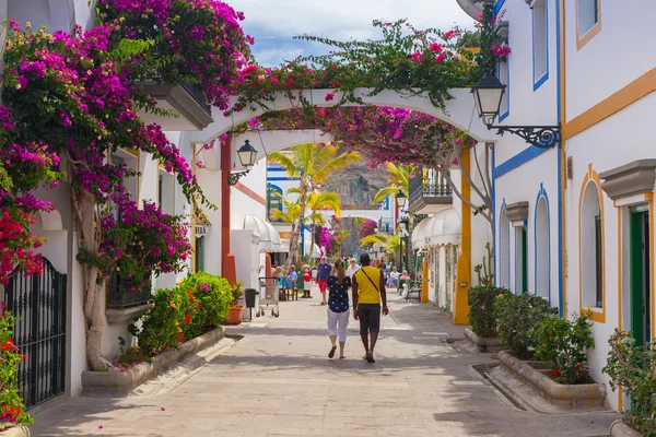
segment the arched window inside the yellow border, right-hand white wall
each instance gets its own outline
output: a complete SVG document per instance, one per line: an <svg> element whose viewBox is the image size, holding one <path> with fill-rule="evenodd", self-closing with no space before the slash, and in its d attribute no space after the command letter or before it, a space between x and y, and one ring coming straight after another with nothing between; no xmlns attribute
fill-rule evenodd
<svg viewBox="0 0 656 437"><path fill-rule="evenodd" d="M599 187L589 180L579 213L581 307L604 307L604 217Z"/></svg>

